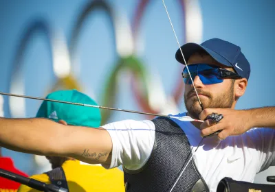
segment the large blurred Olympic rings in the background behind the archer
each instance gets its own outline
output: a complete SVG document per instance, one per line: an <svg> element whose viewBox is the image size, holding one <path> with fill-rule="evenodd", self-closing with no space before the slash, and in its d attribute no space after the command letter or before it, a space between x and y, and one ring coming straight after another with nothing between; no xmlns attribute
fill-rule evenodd
<svg viewBox="0 0 275 192"><path fill-rule="evenodd" d="M196 0L178 0L179 10L181 11L182 21L184 23L184 36L186 42L200 42L202 35L202 19L199 9L198 1ZM111 34L113 34L113 45L115 45L114 51L118 56L118 60L115 61L115 67L110 72L107 82L105 82L105 91L102 93L102 101L99 101L102 106L113 107L115 104L116 97L116 86L118 86L118 78L120 71L127 69L131 72L131 89L137 104L146 112L158 113L163 112L165 106L164 103L156 105L152 104L151 100L154 94L151 90L152 84L148 83L148 72L146 67L142 63L142 60L137 57L137 39L140 32L140 23L142 16L146 8L148 7L148 0L139 1L135 8L133 16L133 25L130 25L129 21L125 16L121 15L120 12L115 12L113 6L109 1L94 0L87 3L78 14L75 24L72 27L72 36L69 39L69 46L66 43L65 36L62 32L53 29L52 26L47 23L44 19L38 19L32 21L26 28L25 32L19 40L19 47L15 54L14 61L12 62L12 71L10 73L10 87L9 92L24 95L25 86L23 84L23 53L27 48L30 39L34 35L34 32L43 32L47 37L48 47L52 54L52 69L56 82L51 85L50 89L47 89L47 93L50 93L58 88L76 88L81 91L82 87L80 83L74 77L72 71L72 65L78 64L76 62L76 47L80 31L83 28L83 23L86 21L88 16L95 10L104 11L109 18L109 25L111 25ZM195 12L195 13L194 13ZM192 21L192 22L191 22ZM194 22L196 21L196 22ZM191 26L192 24L192 26ZM194 31L195 30L195 31ZM195 34L195 35L194 35ZM179 75L180 76L180 75ZM177 108L179 99L183 92L183 86L181 84L181 77L178 78L175 84L175 88L172 96L174 105ZM45 93L45 94L47 94ZM112 95L112 97L110 97ZM163 95L166 98L166 95ZM167 99L166 99L167 101ZM25 101L21 98L10 97L9 101L8 116L10 117L25 117ZM157 107L156 107L157 106ZM159 108L159 106L162 106ZM171 105L170 105L171 106ZM176 109L173 110L176 110ZM111 111L102 110L102 123L106 123L111 116Z"/></svg>

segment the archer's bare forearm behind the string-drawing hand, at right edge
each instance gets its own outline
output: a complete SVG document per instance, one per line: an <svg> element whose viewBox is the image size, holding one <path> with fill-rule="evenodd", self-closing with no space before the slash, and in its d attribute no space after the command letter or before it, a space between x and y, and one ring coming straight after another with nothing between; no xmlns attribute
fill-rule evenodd
<svg viewBox="0 0 275 192"><path fill-rule="evenodd" d="M275 107L244 110L250 116L252 128L275 128Z"/></svg>

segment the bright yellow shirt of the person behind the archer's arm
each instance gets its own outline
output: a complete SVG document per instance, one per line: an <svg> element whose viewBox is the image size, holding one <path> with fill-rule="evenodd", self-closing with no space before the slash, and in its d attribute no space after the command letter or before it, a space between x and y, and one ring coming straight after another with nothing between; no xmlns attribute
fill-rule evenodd
<svg viewBox="0 0 275 192"><path fill-rule="evenodd" d="M118 168L104 169L98 165L81 165L79 160L66 160L62 168L70 192L125 191L123 172ZM50 179L45 173L30 178L50 184ZM37 190L21 184L18 191L36 192Z"/></svg>

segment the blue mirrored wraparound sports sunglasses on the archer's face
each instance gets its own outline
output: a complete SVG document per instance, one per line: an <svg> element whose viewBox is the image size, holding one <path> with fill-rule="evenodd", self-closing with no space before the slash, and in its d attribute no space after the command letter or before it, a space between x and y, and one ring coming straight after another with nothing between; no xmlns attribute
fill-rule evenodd
<svg viewBox="0 0 275 192"><path fill-rule="evenodd" d="M188 65L192 80L198 75L203 84L219 84L223 79L241 79L242 77L232 71L221 69L210 64L190 64ZM185 84L192 84L187 67L182 72Z"/></svg>

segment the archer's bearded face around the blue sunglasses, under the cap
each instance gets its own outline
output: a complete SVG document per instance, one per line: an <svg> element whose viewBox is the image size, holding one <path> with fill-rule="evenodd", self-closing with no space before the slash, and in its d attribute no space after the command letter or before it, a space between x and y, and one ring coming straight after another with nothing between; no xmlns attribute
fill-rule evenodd
<svg viewBox="0 0 275 192"><path fill-rule="evenodd" d="M208 55L193 54L189 60L188 65L196 63L214 64L220 68L233 71L232 68L225 68L213 58ZM234 104L234 81L225 79L218 84L203 84L199 76L194 80L199 99L203 108L232 108ZM197 95L192 84L185 84L184 103L188 111L188 115L195 119L199 119L199 114L202 109L199 105Z"/></svg>

